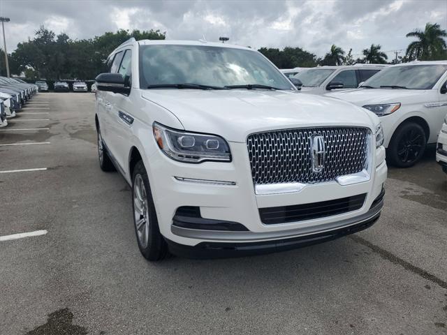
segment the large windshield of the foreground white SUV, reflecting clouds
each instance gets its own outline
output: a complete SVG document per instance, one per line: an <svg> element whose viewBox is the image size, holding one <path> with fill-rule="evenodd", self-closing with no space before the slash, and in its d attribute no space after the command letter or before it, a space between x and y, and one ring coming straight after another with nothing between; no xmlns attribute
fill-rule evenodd
<svg viewBox="0 0 447 335"><path fill-rule="evenodd" d="M140 87L164 84L250 84L295 90L258 52L209 45L142 45Z"/></svg>

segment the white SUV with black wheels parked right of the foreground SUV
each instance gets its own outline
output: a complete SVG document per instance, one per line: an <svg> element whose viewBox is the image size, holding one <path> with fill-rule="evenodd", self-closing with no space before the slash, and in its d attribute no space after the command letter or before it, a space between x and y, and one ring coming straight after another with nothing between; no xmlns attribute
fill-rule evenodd
<svg viewBox="0 0 447 335"><path fill-rule="evenodd" d="M390 163L414 165L435 144L447 113L447 61L414 61L382 70L360 89L329 94L376 113Z"/></svg>

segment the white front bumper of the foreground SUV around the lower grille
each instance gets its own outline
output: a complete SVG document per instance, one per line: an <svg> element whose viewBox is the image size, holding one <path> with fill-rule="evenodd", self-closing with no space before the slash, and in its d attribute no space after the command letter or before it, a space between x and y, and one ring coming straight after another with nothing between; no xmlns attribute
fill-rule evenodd
<svg viewBox="0 0 447 335"><path fill-rule="evenodd" d="M152 135L152 134L149 134ZM147 143L153 141L148 137ZM372 203L381 193L386 180L387 167L384 161L385 149L376 150L373 157L371 177L358 184L344 185L336 181L311 184L299 192L256 195L251 179L251 168L247 145L230 142L233 161L230 163L206 162L186 164L171 160L158 147L152 155L145 156L149 182L159 228L163 237L175 248L177 244L198 246L208 244L264 244L283 239L302 239L311 234L335 234L337 230L359 223L359 218L374 219L368 216ZM149 163L150 162L150 163ZM376 162L382 162L378 165ZM175 179L205 179L207 181L231 181L233 185L205 184ZM313 202L324 202L352 195L366 194L365 202L359 209L333 216L311 220L266 225L261 221L259 209ZM246 232L221 232L216 230L188 230L173 225L173 218L179 207L200 207L204 219L240 223ZM332 232L330 232L332 231ZM338 236L339 233L337 233ZM335 238L335 237L334 237ZM325 238L321 238L325 239ZM276 243L276 242L275 242ZM175 252L175 251L174 251Z"/></svg>

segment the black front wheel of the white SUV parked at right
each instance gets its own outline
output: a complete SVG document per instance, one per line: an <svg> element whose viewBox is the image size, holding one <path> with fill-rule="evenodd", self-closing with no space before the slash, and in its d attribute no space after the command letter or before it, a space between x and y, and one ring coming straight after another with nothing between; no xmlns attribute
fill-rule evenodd
<svg viewBox="0 0 447 335"><path fill-rule="evenodd" d="M424 129L414 122L406 122L393 134L386 156L391 165L409 168L423 156L426 145Z"/></svg>

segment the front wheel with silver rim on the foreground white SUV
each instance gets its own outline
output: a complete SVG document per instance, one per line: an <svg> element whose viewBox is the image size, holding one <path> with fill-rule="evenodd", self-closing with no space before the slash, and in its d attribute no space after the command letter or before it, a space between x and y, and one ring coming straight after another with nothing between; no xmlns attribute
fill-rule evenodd
<svg viewBox="0 0 447 335"><path fill-rule="evenodd" d="M136 163L132 176L133 226L141 254L152 262L168 256L168 244L159 230L149 179L142 161Z"/></svg>

